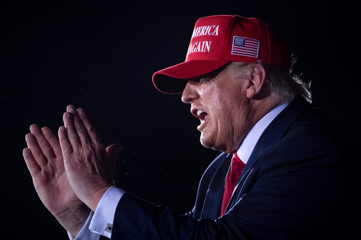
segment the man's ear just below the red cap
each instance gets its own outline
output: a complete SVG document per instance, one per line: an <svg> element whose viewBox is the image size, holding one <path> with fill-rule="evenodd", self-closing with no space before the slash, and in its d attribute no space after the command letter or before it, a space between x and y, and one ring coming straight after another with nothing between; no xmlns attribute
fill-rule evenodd
<svg viewBox="0 0 361 240"><path fill-rule="evenodd" d="M262 87L266 81L266 69L261 64L255 64L253 66L251 76L248 80L248 86L246 89L247 98L254 98L262 90Z"/></svg>

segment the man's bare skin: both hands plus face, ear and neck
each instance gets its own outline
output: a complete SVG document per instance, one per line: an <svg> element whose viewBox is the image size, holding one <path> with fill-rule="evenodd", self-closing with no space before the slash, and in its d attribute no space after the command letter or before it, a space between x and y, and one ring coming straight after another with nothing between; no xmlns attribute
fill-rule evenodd
<svg viewBox="0 0 361 240"><path fill-rule="evenodd" d="M265 69L255 64L243 78L223 70L216 77L188 81L182 94L199 109L200 141L207 147L235 153L249 130L277 103L263 87ZM47 209L74 237L95 211L105 191L113 186L116 154L122 145L105 148L83 109L67 107L58 139L44 127L30 126L23 156L36 192Z"/></svg>

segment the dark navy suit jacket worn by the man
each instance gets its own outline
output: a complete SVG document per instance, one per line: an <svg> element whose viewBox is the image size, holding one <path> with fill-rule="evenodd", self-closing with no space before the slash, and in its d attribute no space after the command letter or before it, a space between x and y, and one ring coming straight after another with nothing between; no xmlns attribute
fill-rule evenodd
<svg viewBox="0 0 361 240"><path fill-rule="evenodd" d="M352 143L296 98L262 133L225 215L219 217L231 155L222 153L204 172L191 212L179 216L126 193L111 239L360 239L359 221L349 217L359 216Z"/></svg>

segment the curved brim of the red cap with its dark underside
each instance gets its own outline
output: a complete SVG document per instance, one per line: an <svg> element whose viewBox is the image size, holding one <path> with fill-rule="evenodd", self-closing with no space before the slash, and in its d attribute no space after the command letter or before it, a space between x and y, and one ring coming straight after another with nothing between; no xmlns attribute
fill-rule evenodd
<svg viewBox="0 0 361 240"><path fill-rule="evenodd" d="M188 60L153 74L153 84L167 94L182 93L187 81L222 67L229 60ZM186 81L187 80L187 81Z"/></svg>

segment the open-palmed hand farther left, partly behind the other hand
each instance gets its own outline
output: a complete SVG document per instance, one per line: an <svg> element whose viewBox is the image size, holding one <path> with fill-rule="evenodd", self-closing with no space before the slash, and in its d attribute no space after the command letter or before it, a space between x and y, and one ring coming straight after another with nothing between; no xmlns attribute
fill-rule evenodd
<svg viewBox="0 0 361 240"><path fill-rule="evenodd" d="M28 147L23 150L23 156L36 192L60 224L77 236L90 209L69 184L57 137L48 127L40 130L36 124L30 126L30 132L25 136Z"/></svg>

